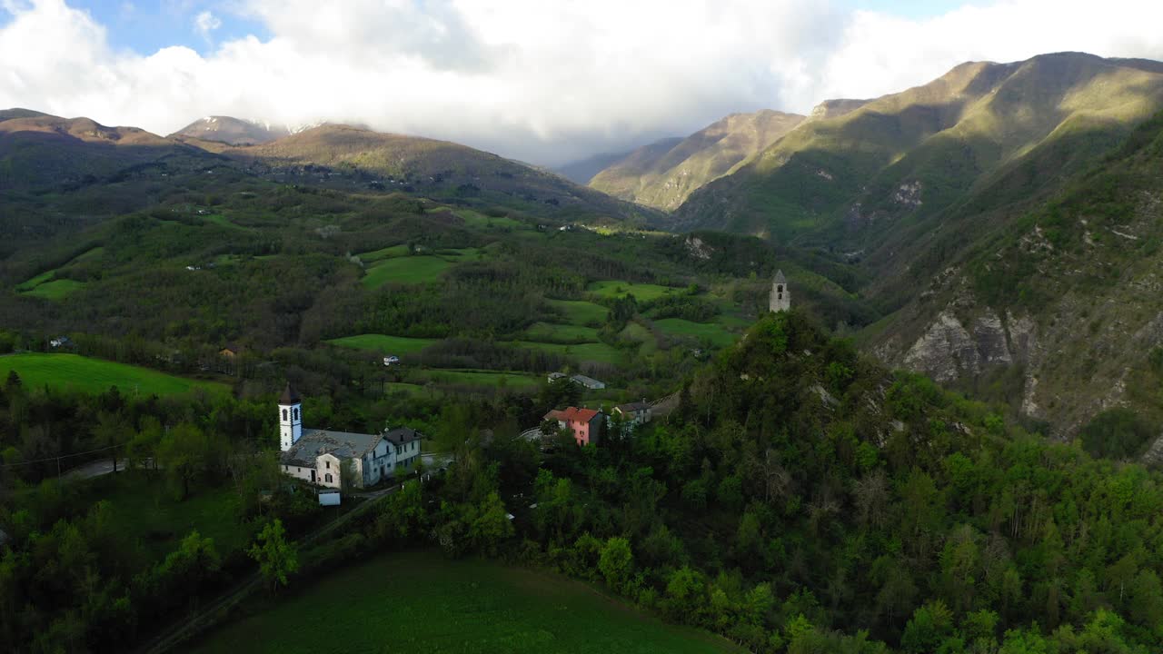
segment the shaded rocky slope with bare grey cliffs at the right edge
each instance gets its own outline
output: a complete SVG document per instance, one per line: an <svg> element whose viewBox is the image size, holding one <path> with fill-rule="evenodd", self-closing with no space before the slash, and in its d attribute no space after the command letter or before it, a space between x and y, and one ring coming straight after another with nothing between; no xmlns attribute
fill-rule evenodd
<svg viewBox="0 0 1163 654"><path fill-rule="evenodd" d="M1063 434L1085 432L1094 417L1123 406L1157 425L1160 170L1163 114L1046 201L992 221L939 273L918 279L920 296L869 334L870 346L886 361L1008 400ZM1149 445L1140 441L1127 454Z"/></svg>

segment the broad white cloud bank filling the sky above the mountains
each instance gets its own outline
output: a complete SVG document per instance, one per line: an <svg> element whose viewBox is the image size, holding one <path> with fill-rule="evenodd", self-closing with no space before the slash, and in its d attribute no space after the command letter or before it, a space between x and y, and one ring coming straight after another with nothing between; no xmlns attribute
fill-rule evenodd
<svg viewBox="0 0 1163 654"><path fill-rule="evenodd" d="M205 55L113 51L62 0L2 1L15 17L0 27L0 107L162 134L207 114L357 121L538 163L734 111L900 91L968 59L1163 59L1163 3L1135 0L1000 1L925 20L811 0L235 0L223 6L270 38ZM221 24L195 19L204 35Z"/></svg>

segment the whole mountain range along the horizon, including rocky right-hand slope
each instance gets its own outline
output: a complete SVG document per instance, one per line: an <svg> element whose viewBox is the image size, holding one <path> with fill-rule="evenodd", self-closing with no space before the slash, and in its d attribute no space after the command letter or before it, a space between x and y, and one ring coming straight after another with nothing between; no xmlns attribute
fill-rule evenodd
<svg viewBox="0 0 1163 654"><path fill-rule="evenodd" d="M158 136L8 109L0 194L14 211L0 248L144 209L176 192L165 176L192 173L695 233L683 241L695 260L736 247L714 251L708 232L756 236L793 289L847 303L835 328L865 350L1069 435L1120 406L1163 418L1149 363L1163 346L1161 109L1163 63L971 62L900 93L806 116L733 114L563 169L584 186L343 125L292 133L212 116ZM126 180L131 192L104 190ZM76 204L47 202L53 193Z"/></svg>

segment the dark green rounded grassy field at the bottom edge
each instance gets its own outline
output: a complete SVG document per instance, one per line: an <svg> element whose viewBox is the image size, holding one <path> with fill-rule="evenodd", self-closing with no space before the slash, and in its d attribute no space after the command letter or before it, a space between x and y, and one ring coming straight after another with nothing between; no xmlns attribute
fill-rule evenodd
<svg viewBox="0 0 1163 654"><path fill-rule="evenodd" d="M694 654L739 652L547 573L434 553L393 553L338 570L188 652Z"/></svg>

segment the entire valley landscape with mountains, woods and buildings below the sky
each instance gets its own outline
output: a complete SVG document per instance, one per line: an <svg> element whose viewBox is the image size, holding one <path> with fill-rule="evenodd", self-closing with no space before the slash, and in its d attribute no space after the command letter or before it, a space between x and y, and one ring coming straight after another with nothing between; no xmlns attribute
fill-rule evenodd
<svg viewBox="0 0 1163 654"><path fill-rule="evenodd" d="M1163 64L611 152L0 111L0 649L1163 647Z"/></svg>

